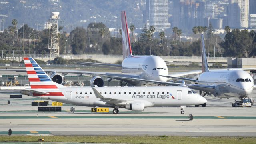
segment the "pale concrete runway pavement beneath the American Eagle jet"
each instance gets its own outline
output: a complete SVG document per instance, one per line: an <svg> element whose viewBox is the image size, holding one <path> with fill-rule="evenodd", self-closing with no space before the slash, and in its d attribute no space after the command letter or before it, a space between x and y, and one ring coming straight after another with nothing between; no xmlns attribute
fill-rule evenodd
<svg viewBox="0 0 256 144"><path fill-rule="evenodd" d="M250 96L256 100L256 91ZM89 107L64 104L62 112L37 112L30 96L9 100L0 97L0 135L9 128L13 135L174 135L174 136L256 136L256 107L232 108L235 98L206 96L206 107L150 107L144 112L120 109L119 114L90 113ZM50 102L49 102L50 103ZM192 121L188 114L194 114Z"/></svg>

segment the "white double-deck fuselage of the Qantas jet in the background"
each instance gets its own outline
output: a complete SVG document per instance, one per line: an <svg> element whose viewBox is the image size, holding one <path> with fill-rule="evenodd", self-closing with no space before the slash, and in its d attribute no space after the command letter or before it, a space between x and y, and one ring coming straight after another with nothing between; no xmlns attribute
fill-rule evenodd
<svg viewBox="0 0 256 144"><path fill-rule="evenodd" d="M122 62L122 73L138 74L141 79L156 80L166 82L168 78L159 76L168 76L166 63L159 56L130 56ZM142 86L143 84L156 85L149 82L131 82L133 86Z"/></svg>

